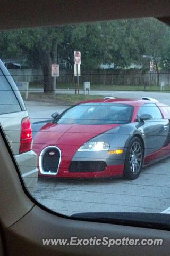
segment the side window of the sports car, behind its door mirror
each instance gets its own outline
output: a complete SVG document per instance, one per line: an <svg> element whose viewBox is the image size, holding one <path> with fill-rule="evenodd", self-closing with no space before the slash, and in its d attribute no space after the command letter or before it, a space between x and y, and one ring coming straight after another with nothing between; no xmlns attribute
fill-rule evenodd
<svg viewBox="0 0 170 256"><path fill-rule="evenodd" d="M153 119L163 119L163 116L159 108L154 103L147 103L141 106L138 111L138 117L140 117L143 114L149 114L153 117Z"/></svg>

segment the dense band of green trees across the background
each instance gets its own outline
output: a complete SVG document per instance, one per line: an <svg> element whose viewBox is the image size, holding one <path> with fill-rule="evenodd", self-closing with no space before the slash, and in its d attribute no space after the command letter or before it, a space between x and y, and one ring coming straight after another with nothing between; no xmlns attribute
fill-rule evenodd
<svg viewBox="0 0 170 256"><path fill-rule="evenodd" d="M81 51L84 71L114 63L115 68L154 60L159 84L160 68L170 66L170 30L154 18L83 23L58 27L1 32L0 53L6 58L26 54L44 73L44 92L52 91L51 64L58 58L74 64L74 51ZM144 55L147 58L144 58Z"/></svg>

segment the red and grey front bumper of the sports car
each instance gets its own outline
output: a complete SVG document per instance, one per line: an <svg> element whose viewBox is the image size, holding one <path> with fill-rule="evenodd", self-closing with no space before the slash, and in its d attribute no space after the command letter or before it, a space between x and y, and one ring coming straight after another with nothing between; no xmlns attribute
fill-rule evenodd
<svg viewBox="0 0 170 256"><path fill-rule="evenodd" d="M122 176L125 154L108 154L108 151L77 151L73 157L62 155L57 173L42 173L53 178L94 178Z"/></svg>

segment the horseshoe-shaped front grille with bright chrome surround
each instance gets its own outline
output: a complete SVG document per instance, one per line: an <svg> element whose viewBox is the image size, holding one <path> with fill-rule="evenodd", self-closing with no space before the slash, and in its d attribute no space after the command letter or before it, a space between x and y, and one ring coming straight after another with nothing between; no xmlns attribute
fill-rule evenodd
<svg viewBox="0 0 170 256"><path fill-rule="evenodd" d="M39 169L42 174L56 175L61 162L61 151L58 147L49 146L40 154Z"/></svg>

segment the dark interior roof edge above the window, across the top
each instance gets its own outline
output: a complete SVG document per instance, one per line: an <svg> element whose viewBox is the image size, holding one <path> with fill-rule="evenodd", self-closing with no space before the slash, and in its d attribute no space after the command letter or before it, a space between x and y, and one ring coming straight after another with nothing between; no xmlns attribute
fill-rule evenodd
<svg viewBox="0 0 170 256"><path fill-rule="evenodd" d="M152 2L154 4L151 4ZM22 0L10 1L10 4L9 1L3 1L0 9L0 29L54 26L75 22L140 17L158 17L159 20L170 23L168 4L167 0Z"/></svg>

